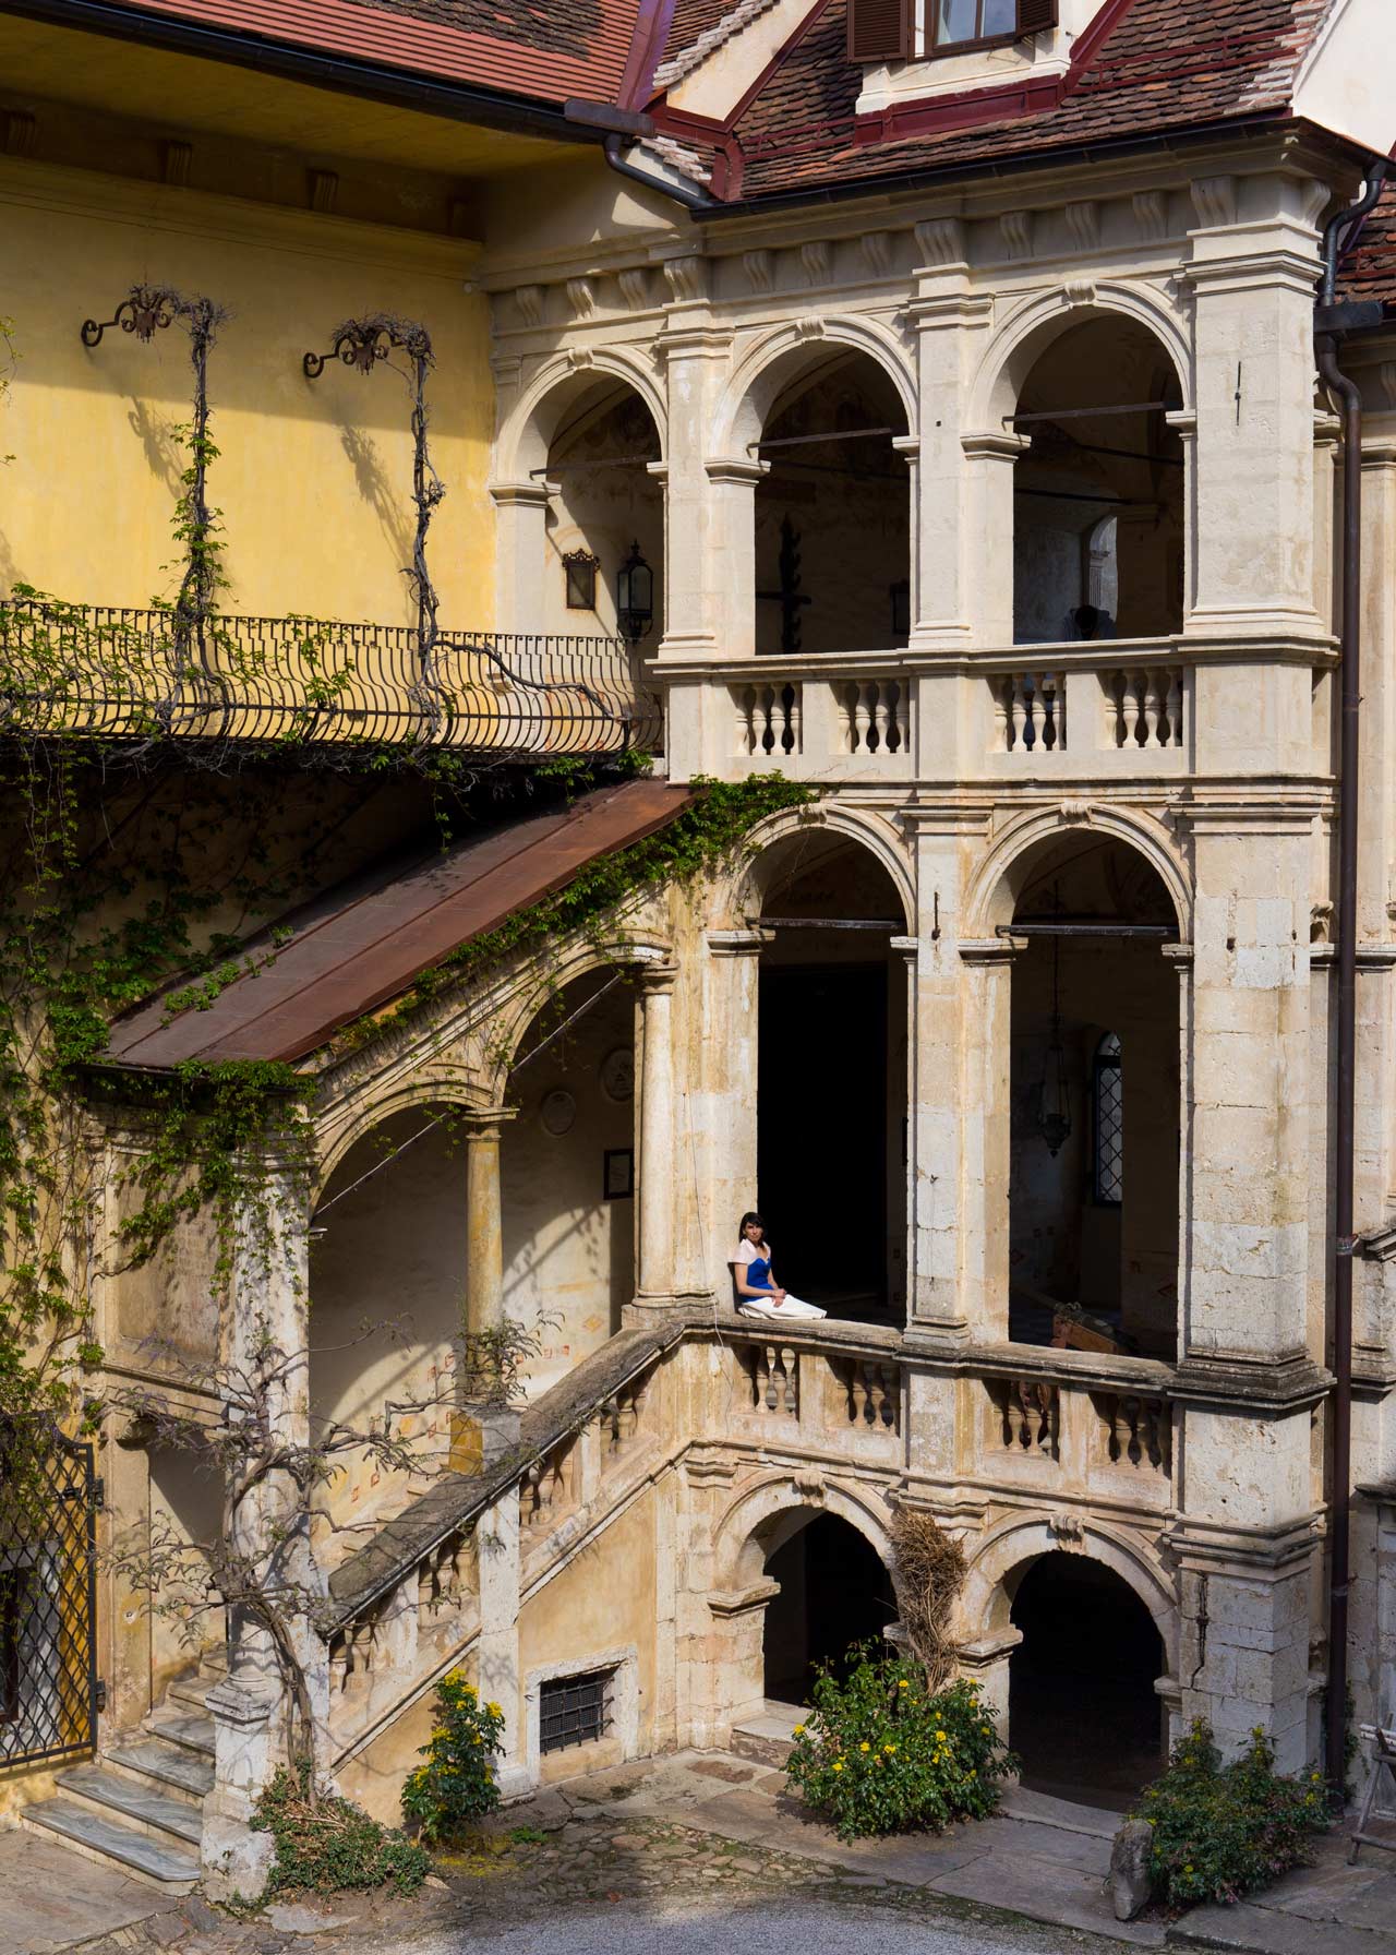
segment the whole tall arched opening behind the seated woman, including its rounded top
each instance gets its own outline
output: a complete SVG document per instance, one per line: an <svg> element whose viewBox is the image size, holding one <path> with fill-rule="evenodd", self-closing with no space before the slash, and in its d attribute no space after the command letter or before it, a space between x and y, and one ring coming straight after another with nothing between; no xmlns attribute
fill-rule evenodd
<svg viewBox="0 0 1396 1955"><path fill-rule="evenodd" d="M776 1275L831 1316L905 1318L907 968L888 870L835 829L757 866L757 1187Z"/></svg>

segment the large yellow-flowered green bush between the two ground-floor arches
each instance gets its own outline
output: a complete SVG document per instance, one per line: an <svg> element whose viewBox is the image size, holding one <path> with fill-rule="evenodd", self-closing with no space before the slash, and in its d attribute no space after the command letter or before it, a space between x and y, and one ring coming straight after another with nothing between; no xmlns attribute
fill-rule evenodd
<svg viewBox="0 0 1396 1955"><path fill-rule="evenodd" d="M792 1785L841 1840L985 1818L1015 1760L978 1683L929 1691L907 1656L862 1644L847 1679L823 1670L813 1713L796 1724Z"/></svg>

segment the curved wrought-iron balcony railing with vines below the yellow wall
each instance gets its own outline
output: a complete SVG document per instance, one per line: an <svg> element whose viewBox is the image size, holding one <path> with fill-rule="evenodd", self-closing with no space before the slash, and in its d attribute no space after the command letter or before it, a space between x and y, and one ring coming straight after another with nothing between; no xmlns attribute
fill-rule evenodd
<svg viewBox="0 0 1396 1955"><path fill-rule="evenodd" d="M493 759L659 743L618 637L0 604L0 729L117 741L448 747Z"/></svg>

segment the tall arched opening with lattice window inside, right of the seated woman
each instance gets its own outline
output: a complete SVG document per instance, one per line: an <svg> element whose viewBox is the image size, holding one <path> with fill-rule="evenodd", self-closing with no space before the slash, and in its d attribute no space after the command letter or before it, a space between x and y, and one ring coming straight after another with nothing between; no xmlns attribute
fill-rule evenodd
<svg viewBox="0 0 1396 1955"><path fill-rule="evenodd" d="M1015 870L1009 1335L1171 1359L1179 1263L1177 913L1126 843Z"/></svg>

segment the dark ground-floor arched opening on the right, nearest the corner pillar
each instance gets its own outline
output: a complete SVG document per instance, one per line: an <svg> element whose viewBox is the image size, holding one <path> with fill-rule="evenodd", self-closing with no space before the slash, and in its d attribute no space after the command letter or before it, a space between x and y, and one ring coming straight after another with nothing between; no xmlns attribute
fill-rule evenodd
<svg viewBox="0 0 1396 1955"><path fill-rule="evenodd" d="M1163 1765L1163 1640L1134 1589L1079 1554L1044 1554L1013 1599L1009 1732L1034 1793L1124 1812Z"/></svg>

